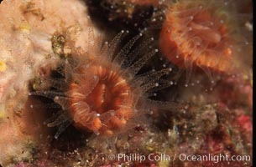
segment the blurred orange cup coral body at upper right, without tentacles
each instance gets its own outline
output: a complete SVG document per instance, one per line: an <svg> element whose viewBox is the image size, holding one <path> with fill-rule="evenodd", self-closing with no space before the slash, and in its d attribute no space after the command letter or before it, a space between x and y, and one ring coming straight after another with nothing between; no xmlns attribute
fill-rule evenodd
<svg viewBox="0 0 256 167"><path fill-rule="evenodd" d="M200 4L175 3L166 15L159 48L170 62L180 68L232 70L232 38L215 8ZM213 14L214 13L214 14Z"/></svg>

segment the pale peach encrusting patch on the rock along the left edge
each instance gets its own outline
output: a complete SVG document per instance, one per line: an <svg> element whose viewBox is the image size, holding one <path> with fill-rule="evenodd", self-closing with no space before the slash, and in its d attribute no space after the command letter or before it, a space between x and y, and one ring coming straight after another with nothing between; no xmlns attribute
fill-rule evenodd
<svg viewBox="0 0 256 167"><path fill-rule="evenodd" d="M65 31L69 38L76 38L76 47L86 47L86 43L81 43L82 38L88 38L86 25L91 24L89 19L81 17L86 13L86 6L76 0L5 0L1 3L0 164L5 164L10 156L23 158L19 152L24 145L23 138L29 139L29 136L13 124L13 114L24 108L29 80L55 68L61 49L68 52L68 48L58 48L58 43L54 48L56 33Z"/></svg>

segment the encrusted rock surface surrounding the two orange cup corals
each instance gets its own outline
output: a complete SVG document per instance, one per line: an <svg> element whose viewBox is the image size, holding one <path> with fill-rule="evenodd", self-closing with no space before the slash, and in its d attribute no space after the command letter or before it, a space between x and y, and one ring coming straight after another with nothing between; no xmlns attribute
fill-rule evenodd
<svg viewBox="0 0 256 167"><path fill-rule="evenodd" d="M211 2L223 3L222 0ZM229 1L225 0L225 2ZM240 6L238 1L232 2ZM251 4L247 2L243 1L241 11L238 8L239 13L245 12L244 19L252 15L252 11L248 9ZM70 126L62 132L59 139L55 139L57 129L45 126L44 121L50 119L58 109L64 109L66 105L60 101L62 106L59 105L57 109L58 104L51 104L54 101L31 97L29 92L44 90L54 92L56 88L53 88L50 78L60 81L60 75L64 73L59 69L60 61L66 62L63 60L67 58L72 60L73 48L77 53L91 52L93 55L88 58L90 60L98 56L94 55L97 53L90 48L93 44L99 44L93 43L98 38L92 34L92 29L96 28L91 22L99 24L103 29L106 28L104 29L107 32L106 36L112 36L113 33L128 28L129 38L138 35L138 32L144 29L143 32L147 33L150 40L153 36L154 41L158 41L160 28L165 20L163 18L165 6L172 3L164 3L164 1L159 1L157 5L155 3L157 1L154 0L2 1L0 4L0 166L252 166L252 161L245 160L213 163L173 159L175 154L225 154L229 157L252 155L251 59L253 56L250 54L252 53L250 49L246 50L248 54L244 57L239 54L243 62L241 73L220 74L214 73L213 70L212 74L217 75L214 82L211 76L206 76L206 73L192 72L191 78L187 79L185 73L188 71L175 67L175 63L171 63L164 55L157 53L155 58L146 63L143 70L153 69L154 72L159 68L171 67L173 71L170 70L170 75L160 79L157 86L149 85L159 92L147 92L147 95L149 93L149 96L152 95L150 98L159 101L175 100L178 107L173 102L159 103L163 105L150 104L149 109L147 105L141 104L144 110L149 110L149 114L135 118L136 124L130 124L133 129L121 135L106 139L93 132L81 131L76 126ZM88 18L87 8L90 9L91 19ZM217 13L225 13L225 11L218 10ZM246 23L240 26L246 27L244 29L248 30L250 36L252 25L250 20L246 20ZM150 48L147 41L143 40L144 38L142 42L138 40L136 45ZM116 38L115 43L110 46L114 48L117 43L125 45L127 39ZM251 47L251 43L246 44L248 48ZM115 52L112 48L108 49ZM148 49L144 48L138 50L144 50L144 53L148 54L146 53ZM243 53L245 48L241 49ZM128 50L128 53L131 53L128 54L129 56L133 54L138 56L134 58L136 60L143 56L139 55L134 47ZM86 55L90 54L86 53ZM103 58L98 58L97 62L101 63ZM205 61L207 62L207 59ZM113 61L110 62L111 66ZM128 63L132 62L128 61ZM118 71L121 73L123 69L122 66ZM175 69L178 71L177 76L174 74ZM152 77L152 73L148 76ZM145 77L144 80L154 81L155 78L158 76ZM186 81L189 82L185 83ZM164 89L165 87L170 88ZM99 102L106 98L105 91L105 89L98 91L103 94L97 98ZM90 103L93 104L93 100L91 101ZM139 114L141 113L138 111ZM145 156L152 154L153 157L165 154L171 159L144 159L143 162L139 162L138 159L118 160L117 157L112 157L118 154Z"/></svg>

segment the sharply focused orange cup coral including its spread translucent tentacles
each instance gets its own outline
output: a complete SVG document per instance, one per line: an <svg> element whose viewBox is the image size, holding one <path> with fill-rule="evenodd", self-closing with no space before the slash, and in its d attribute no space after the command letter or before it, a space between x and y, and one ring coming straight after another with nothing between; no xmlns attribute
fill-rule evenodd
<svg viewBox="0 0 256 167"><path fill-rule="evenodd" d="M82 131L91 131L102 136L123 133L138 125L136 119L141 114L153 109L154 102L147 103L147 95L150 96L147 91L159 89L159 82L164 82L164 79L159 78L170 73L171 69L138 74L144 63L158 50L144 54L135 62L131 61L130 56L138 55L136 50L144 50L131 50L138 38L141 38L142 34L139 34L115 55L123 33L124 31L119 33L103 48L98 48L97 45L101 44L94 41L95 39L88 43L86 52L78 52L74 48L71 57L65 58L60 64L60 70L57 70L63 78L50 78L55 91L31 93L53 99L62 107L60 113L56 114L57 118L47 121L50 127L60 126L55 138L69 124L74 124ZM93 36L92 33L91 35Z"/></svg>

